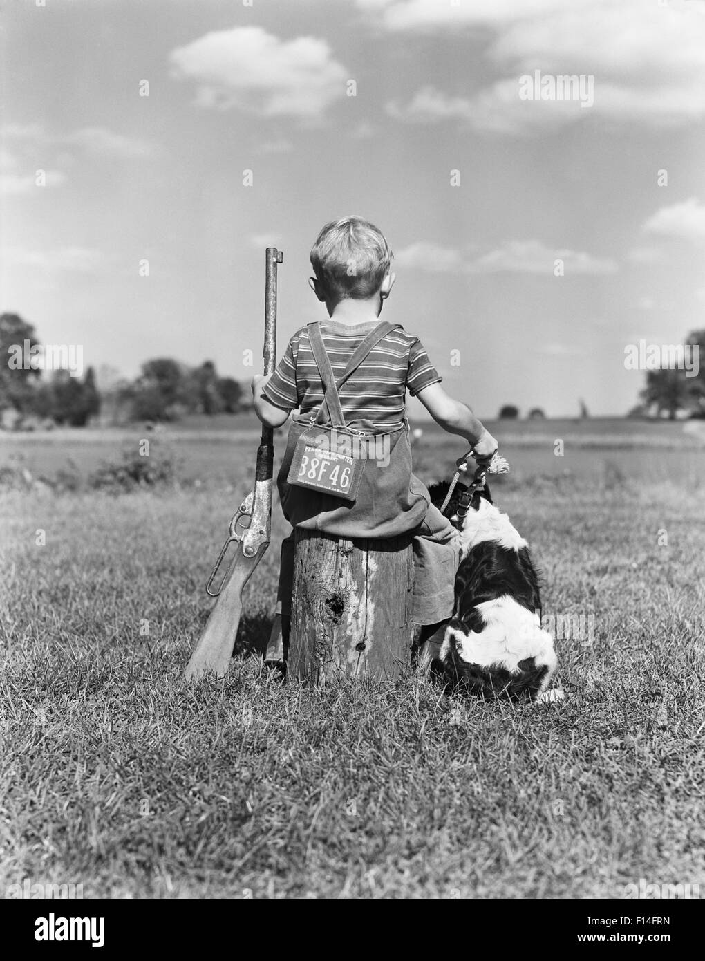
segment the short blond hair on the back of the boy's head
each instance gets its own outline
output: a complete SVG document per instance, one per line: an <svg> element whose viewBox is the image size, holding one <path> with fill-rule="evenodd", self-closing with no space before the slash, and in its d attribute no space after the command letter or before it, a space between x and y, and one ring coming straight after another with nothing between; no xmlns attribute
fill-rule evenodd
<svg viewBox="0 0 705 961"><path fill-rule="evenodd" d="M393 256L384 234L358 216L331 220L311 248L316 278L329 296L341 300L374 296Z"/></svg>

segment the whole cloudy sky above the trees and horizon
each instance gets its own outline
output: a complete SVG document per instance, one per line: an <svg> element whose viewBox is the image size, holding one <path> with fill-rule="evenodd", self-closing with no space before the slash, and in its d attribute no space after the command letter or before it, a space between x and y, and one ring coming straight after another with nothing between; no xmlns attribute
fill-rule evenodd
<svg viewBox="0 0 705 961"><path fill-rule="evenodd" d="M480 417L624 413L645 377L625 347L705 327L704 0L0 16L0 310L85 365L211 359L249 381L265 247L284 252L281 354L325 317L308 256L351 213L395 254L384 319ZM582 78L572 99L547 99L559 75Z"/></svg>

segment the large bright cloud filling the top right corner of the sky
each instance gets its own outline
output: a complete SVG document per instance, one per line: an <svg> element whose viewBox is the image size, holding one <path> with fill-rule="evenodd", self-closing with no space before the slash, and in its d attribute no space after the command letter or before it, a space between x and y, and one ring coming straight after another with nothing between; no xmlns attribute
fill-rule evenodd
<svg viewBox="0 0 705 961"><path fill-rule="evenodd" d="M358 0L359 4L359 0ZM460 120L473 129L527 135L598 117L648 127L705 116L705 3L643 0L394 0L361 4L388 31L468 32L484 43L479 89L424 87L388 112L409 122ZM593 77L595 103L520 100L523 75Z"/></svg>

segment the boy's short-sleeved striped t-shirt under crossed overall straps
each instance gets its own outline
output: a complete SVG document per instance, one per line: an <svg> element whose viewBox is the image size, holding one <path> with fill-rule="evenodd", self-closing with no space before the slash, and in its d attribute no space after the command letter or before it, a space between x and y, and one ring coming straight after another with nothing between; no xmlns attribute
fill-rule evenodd
<svg viewBox="0 0 705 961"><path fill-rule="evenodd" d="M348 325L321 321L321 334L336 381L355 348L378 323L373 320ZM429 383L441 380L421 340L397 327L377 343L340 388L340 406L346 422L369 420L377 428L398 427L406 411L406 389L414 397ZM324 399L323 382L305 327L289 340L262 396L283 410L300 407L302 414L318 411Z"/></svg>

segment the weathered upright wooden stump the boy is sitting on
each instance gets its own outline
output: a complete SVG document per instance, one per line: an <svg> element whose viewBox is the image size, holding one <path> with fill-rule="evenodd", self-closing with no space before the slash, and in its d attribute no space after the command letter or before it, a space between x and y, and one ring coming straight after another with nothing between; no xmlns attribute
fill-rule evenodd
<svg viewBox="0 0 705 961"><path fill-rule="evenodd" d="M345 540L296 530L286 673L399 678L412 642L412 538Z"/></svg>

